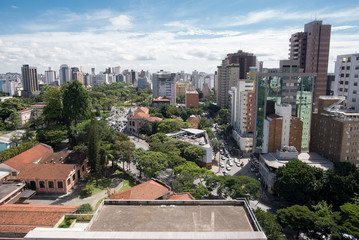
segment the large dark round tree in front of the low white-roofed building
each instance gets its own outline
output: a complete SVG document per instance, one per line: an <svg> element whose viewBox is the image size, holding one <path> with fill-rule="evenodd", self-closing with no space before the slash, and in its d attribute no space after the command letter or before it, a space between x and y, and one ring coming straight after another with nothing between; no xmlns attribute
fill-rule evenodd
<svg viewBox="0 0 359 240"><path fill-rule="evenodd" d="M294 159L276 171L275 191L297 204L312 205L323 187L324 172L320 168Z"/></svg>

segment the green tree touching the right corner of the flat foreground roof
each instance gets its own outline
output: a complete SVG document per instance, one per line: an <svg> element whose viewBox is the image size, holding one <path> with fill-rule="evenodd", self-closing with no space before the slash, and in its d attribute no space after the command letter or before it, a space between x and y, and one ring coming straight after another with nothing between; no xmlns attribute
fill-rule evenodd
<svg viewBox="0 0 359 240"><path fill-rule="evenodd" d="M274 214L260 208L254 210L254 214L268 240L285 240L281 231L282 227L276 222Z"/></svg>

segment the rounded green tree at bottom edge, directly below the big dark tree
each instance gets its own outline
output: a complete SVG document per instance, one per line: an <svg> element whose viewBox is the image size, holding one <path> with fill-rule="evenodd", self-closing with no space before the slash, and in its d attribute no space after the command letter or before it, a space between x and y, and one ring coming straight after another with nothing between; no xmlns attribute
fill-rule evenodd
<svg viewBox="0 0 359 240"><path fill-rule="evenodd" d="M277 220L283 227L289 227L297 231L296 239L299 234L310 233L314 230L315 214L307 206L293 205L277 211Z"/></svg>

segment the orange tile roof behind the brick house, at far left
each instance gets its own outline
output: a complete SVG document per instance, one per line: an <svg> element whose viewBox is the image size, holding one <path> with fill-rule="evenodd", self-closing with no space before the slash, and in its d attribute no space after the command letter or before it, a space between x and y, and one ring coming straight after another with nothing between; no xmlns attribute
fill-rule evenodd
<svg viewBox="0 0 359 240"><path fill-rule="evenodd" d="M36 162L51 153L53 153L53 150L50 146L39 143L3 163L20 171L26 164Z"/></svg>

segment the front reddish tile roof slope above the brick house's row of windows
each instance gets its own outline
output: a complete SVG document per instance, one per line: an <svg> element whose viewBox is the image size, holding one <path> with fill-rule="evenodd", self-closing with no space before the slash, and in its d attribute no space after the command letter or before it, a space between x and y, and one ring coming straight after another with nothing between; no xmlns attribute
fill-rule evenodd
<svg viewBox="0 0 359 240"><path fill-rule="evenodd" d="M74 164L27 164L17 176L21 180L66 180L74 169Z"/></svg>

